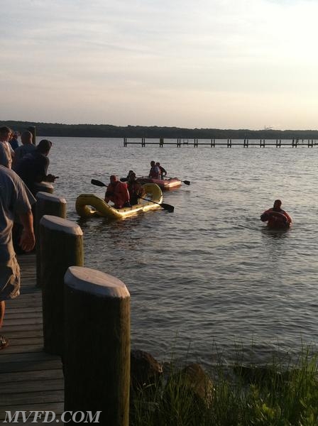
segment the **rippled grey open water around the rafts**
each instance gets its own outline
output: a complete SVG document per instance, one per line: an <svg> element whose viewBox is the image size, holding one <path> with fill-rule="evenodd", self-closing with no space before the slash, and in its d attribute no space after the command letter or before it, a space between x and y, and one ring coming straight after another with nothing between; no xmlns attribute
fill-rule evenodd
<svg viewBox="0 0 318 426"><path fill-rule="evenodd" d="M84 263L124 281L131 293L132 347L160 360L211 364L297 352L318 338L315 148L128 146L119 139L51 138L55 194L84 232ZM150 160L190 180L165 192L163 210L119 222L81 220L77 195L104 196L92 178ZM268 231L260 214L283 200L292 229Z"/></svg>

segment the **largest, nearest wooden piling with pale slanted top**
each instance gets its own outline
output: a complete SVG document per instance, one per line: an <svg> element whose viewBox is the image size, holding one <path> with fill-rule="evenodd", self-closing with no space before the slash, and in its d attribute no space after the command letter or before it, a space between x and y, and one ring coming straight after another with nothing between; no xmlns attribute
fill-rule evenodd
<svg viewBox="0 0 318 426"><path fill-rule="evenodd" d="M130 295L111 275L71 266L65 274L65 411L92 411L128 426Z"/></svg>

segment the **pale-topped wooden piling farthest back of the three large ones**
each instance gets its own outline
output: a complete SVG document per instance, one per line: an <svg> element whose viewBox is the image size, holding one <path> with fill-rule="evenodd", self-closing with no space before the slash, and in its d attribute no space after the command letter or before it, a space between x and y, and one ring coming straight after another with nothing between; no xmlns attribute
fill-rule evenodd
<svg viewBox="0 0 318 426"><path fill-rule="evenodd" d="M66 201L62 197L57 197L48 192L38 192L36 195L35 215L34 215L34 231L36 241L36 286L41 287L40 267L41 267L41 251L40 251L40 233L38 231L40 219L50 214L66 219Z"/></svg>

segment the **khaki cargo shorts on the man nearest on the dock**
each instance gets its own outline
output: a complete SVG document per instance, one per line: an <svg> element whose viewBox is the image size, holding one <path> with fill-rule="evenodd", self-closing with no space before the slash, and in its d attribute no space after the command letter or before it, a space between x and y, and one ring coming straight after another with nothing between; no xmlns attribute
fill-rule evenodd
<svg viewBox="0 0 318 426"><path fill-rule="evenodd" d="M20 294L20 267L16 256L0 263L0 301L17 297Z"/></svg>

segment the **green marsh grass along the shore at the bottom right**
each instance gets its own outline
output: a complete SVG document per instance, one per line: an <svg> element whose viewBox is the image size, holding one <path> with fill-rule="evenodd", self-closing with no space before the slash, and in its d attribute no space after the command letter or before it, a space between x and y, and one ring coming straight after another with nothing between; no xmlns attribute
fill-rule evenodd
<svg viewBox="0 0 318 426"><path fill-rule="evenodd" d="M131 426L317 426L317 355L288 364L217 365L206 397L176 370L131 395Z"/></svg>

